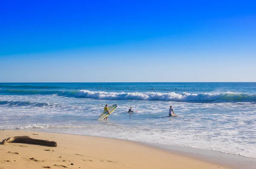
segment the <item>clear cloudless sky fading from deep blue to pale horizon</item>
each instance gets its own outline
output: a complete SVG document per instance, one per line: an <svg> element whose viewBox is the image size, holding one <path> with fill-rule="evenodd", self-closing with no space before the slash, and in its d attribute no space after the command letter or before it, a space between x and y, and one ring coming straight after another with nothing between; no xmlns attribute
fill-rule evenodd
<svg viewBox="0 0 256 169"><path fill-rule="evenodd" d="M256 1L5 0L0 82L256 82Z"/></svg>

